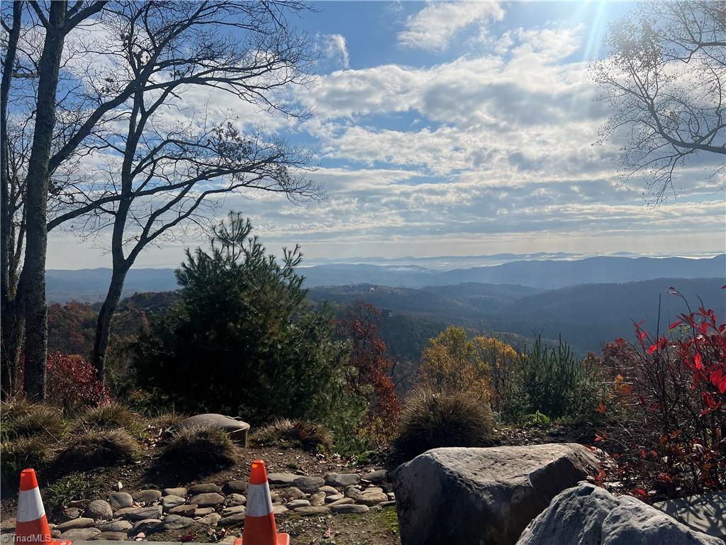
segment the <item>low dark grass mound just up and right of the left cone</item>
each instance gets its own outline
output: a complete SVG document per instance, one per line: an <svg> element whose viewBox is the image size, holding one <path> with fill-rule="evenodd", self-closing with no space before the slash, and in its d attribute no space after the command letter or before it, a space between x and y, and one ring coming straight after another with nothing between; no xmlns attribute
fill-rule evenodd
<svg viewBox="0 0 726 545"><path fill-rule="evenodd" d="M92 430L73 437L56 462L64 471L92 469L126 464L138 455L139 443L125 429Z"/></svg>

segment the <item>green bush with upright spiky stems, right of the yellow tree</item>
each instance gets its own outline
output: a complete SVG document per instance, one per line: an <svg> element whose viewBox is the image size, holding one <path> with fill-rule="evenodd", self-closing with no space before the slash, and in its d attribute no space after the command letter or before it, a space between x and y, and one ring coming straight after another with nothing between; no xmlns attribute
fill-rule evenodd
<svg viewBox="0 0 726 545"><path fill-rule="evenodd" d="M602 389L595 358L580 360L562 339L552 348L538 336L510 371L502 416L519 422L539 412L550 419L582 421L594 414Z"/></svg>

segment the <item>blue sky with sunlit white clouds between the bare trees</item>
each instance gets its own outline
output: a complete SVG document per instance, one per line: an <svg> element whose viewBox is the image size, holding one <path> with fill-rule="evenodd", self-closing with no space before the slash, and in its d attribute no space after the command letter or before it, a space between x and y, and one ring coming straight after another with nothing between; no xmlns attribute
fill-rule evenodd
<svg viewBox="0 0 726 545"><path fill-rule="evenodd" d="M610 115L588 62L606 55L625 2L330 1L290 19L320 58L291 90L304 121L256 124L312 153L326 198L294 204L227 197L274 252L309 258L563 251L698 254L726 248L726 202L703 167L650 206L619 176L622 142L598 143ZM195 102L196 101L196 102ZM226 97L189 99L247 114ZM186 110L184 110L186 111ZM191 115L191 114L189 114ZM106 238L52 232L48 268L110 266ZM136 267L174 267L188 234L147 248Z"/></svg>

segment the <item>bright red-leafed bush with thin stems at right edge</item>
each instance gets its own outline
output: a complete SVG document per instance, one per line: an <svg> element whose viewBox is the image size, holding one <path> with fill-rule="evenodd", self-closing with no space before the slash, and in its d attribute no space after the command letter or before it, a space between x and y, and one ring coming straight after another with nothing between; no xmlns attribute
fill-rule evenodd
<svg viewBox="0 0 726 545"><path fill-rule="evenodd" d="M618 403L597 440L618 461L614 477L650 498L725 488L726 323L699 307L667 336L651 336L642 322L635 333L635 344L603 348Z"/></svg>

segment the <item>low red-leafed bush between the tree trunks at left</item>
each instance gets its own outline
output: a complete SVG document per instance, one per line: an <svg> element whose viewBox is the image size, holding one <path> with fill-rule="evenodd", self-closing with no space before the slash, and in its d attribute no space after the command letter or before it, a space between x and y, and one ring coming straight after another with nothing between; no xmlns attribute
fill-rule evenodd
<svg viewBox="0 0 726 545"><path fill-rule="evenodd" d="M79 355L54 352L48 355L48 393L50 403L61 405L67 413L109 403L110 392L96 370Z"/></svg>

